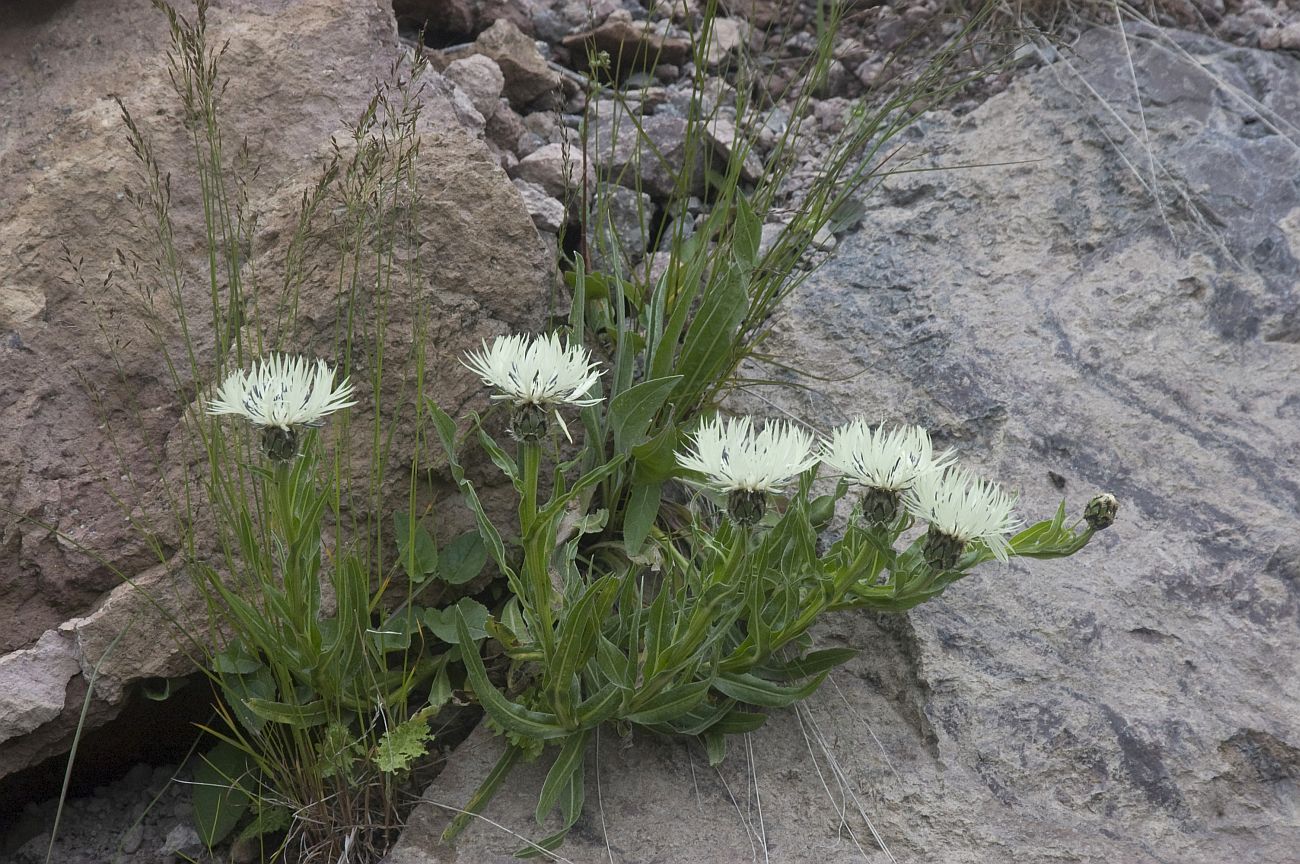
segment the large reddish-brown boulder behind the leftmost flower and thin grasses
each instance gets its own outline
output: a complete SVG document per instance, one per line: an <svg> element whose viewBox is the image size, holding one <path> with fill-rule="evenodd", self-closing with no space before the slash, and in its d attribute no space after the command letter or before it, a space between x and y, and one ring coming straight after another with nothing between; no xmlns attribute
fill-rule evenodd
<svg viewBox="0 0 1300 864"><path fill-rule="evenodd" d="M304 190L335 146L348 157L344 123L406 53L381 0L291 8L292 26L277 0L208 13L209 44L229 40L226 153L234 162L247 142L259 166L246 190L257 222L244 277L263 309L282 299ZM186 452L179 420L208 395L217 357L202 324L211 308L203 210L166 45L166 18L134 0L0 10L0 777L68 747L92 674L87 728L117 715L142 678L191 668L192 646L169 624L188 626L203 602L170 559L179 539L159 504L166 500L161 487L187 468L177 464ZM540 326L551 275L517 191L486 147L462 131L448 91L441 77L425 79L412 139L419 155L402 174L413 184L403 186L413 204L386 217L410 230L402 229L389 274L384 381L385 388L410 383L403 361L419 326L430 349L429 386L458 412L476 399L485 405L486 394L455 359L482 338ZM164 347L183 356L177 322L143 313L139 286L157 249L124 194L139 188L140 166L114 96L170 174L182 296L196 314L190 339L199 357L196 379L182 364L179 386L162 364ZM351 275L341 273L341 249L352 240L342 236L339 212L339 201L326 197L306 240L302 314L280 334L287 349L334 361L343 329L338 292ZM65 261L65 246L84 279ZM118 248L140 257L129 255L105 285ZM139 279L131 275L136 264ZM363 272L361 285L373 285L373 275ZM365 296L359 308L370 301ZM359 346L354 361L359 398L369 399L365 378L376 360ZM415 408L385 417L394 421L398 460L412 442ZM352 464L364 474L361 451ZM424 468L437 470L434 452ZM438 492L421 487L424 498ZM146 543L133 520L152 524L161 546Z"/></svg>

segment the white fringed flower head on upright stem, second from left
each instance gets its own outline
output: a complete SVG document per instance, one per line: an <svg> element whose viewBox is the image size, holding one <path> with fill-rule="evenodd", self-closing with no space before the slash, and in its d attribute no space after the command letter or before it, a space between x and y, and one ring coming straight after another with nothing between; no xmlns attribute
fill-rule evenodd
<svg viewBox="0 0 1300 864"><path fill-rule="evenodd" d="M471 351L463 362L485 385L500 391L493 394L493 399L510 400L515 405L511 431L520 440L540 440L552 411L567 437L568 427L559 416L559 407L601 401L599 396L586 395L602 374L592 355L554 333L497 337L491 346L485 340L482 349Z"/></svg>

